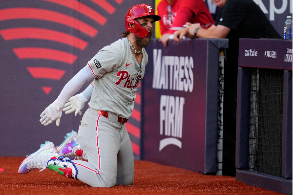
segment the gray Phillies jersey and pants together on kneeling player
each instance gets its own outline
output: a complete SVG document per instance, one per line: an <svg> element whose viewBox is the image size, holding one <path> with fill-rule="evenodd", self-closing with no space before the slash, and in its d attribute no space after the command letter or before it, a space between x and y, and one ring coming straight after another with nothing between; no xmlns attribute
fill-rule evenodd
<svg viewBox="0 0 293 195"><path fill-rule="evenodd" d="M97 77L84 113L78 139L88 162L72 160L77 178L94 187L131 185L134 158L126 124L118 116L129 118L133 111L135 91L143 79L147 64L143 49L142 63L135 60L127 38L101 49L88 65ZM98 110L108 112L101 115Z"/></svg>

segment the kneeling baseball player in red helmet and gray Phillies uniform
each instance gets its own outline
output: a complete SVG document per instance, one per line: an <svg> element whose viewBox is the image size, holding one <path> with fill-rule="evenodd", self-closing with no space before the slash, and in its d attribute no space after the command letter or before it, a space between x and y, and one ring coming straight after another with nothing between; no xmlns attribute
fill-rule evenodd
<svg viewBox="0 0 293 195"><path fill-rule="evenodd" d="M90 108L78 131L78 142L88 162L63 156L46 141L22 161L19 173L49 168L93 187L133 183L134 158L125 123L133 111L137 85L144 77L148 61L144 47L150 42L154 22L160 19L150 5L131 7L126 13L124 38L102 48L42 112L42 125L56 120L58 126L67 100L94 79Z"/></svg>

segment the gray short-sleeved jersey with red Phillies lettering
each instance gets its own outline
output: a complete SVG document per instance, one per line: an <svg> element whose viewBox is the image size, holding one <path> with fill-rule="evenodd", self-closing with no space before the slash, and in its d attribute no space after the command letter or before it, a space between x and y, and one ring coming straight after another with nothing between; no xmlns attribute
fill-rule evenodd
<svg viewBox="0 0 293 195"><path fill-rule="evenodd" d="M89 62L98 78L89 106L97 110L129 118L134 107L135 91L143 79L147 64L143 48L141 65L135 60L127 38L120 39L101 49Z"/></svg>

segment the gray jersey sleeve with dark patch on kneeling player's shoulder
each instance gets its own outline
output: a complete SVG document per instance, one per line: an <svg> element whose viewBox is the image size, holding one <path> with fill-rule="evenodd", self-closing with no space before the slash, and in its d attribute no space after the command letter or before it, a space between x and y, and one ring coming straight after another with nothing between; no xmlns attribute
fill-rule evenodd
<svg viewBox="0 0 293 195"><path fill-rule="evenodd" d="M88 61L87 65L95 77L101 78L107 72L115 69L120 64L121 59L121 53L116 48L108 45Z"/></svg>

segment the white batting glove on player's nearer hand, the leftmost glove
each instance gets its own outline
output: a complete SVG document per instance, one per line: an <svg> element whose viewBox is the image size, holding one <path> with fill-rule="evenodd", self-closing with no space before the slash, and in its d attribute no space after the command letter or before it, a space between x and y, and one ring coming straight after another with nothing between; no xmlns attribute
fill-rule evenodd
<svg viewBox="0 0 293 195"><path fill-rule="evenodd" d="M57 104L50 104L40 115L40 122L42 125L47 126L56 120L56 125L59 126L60 118L62 115L62 108Z"/></svg>

